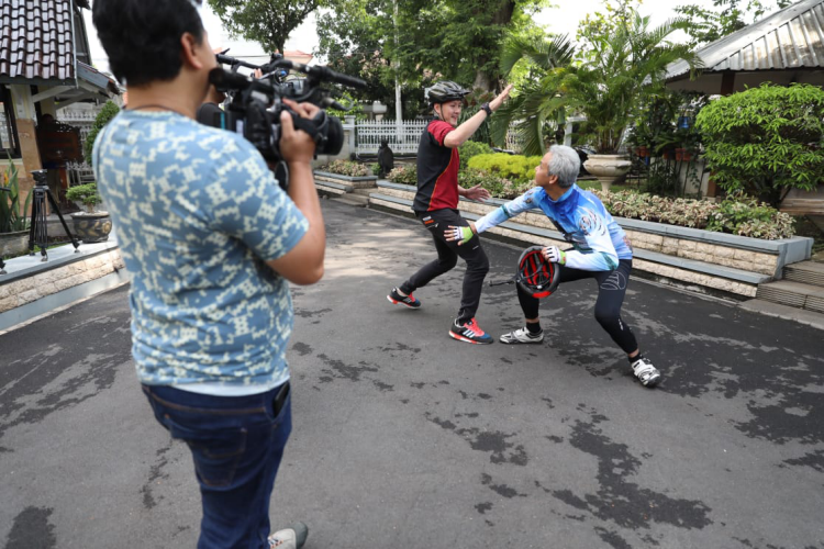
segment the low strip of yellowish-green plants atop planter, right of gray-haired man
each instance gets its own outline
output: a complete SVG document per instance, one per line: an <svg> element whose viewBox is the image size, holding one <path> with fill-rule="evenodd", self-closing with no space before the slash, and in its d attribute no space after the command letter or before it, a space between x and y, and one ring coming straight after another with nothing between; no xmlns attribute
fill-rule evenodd
<svg viewBox="0 0 824 549"><path fill-rule="evenodd" d="M704 228L773 240L793 235L791 215L756 199L738 194L724 202L669 199L647 193L592 191L615 216L653 221L681 227Z"/></svg>

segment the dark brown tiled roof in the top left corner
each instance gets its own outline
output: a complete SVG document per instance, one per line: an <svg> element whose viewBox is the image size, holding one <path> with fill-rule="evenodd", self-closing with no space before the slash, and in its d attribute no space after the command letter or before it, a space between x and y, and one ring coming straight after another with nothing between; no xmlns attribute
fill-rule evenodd
<svg viewBox="0 0 824 549"><path fill-rule="evenodd" d="M0 0L0 81L75 82L71 0Z"/></svg>

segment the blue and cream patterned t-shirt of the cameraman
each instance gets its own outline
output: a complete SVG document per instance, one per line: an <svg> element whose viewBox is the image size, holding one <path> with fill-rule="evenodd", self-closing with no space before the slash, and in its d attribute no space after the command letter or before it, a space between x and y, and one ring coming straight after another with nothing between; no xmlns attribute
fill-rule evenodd
<svg viewBox="0 0 824 549"><path fill-rule="evenodd" d="M289 285L264 261L309 223L243 137L172 112L123 111L94 176L132 274L132 352L147 384L289 377Z"/></svg>

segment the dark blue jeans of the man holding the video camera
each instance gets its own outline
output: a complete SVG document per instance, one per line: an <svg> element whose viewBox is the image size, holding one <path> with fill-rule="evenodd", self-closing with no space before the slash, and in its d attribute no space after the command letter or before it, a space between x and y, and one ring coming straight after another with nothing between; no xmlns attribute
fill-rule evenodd
<svg viewBox="0 0 824 549"><path fill-rule="evenodd" d="M191 450L203 504L198 549L268 549L269 500L292 430L289 384L249 396L166 385L143 392L157 421Z"/></svg>

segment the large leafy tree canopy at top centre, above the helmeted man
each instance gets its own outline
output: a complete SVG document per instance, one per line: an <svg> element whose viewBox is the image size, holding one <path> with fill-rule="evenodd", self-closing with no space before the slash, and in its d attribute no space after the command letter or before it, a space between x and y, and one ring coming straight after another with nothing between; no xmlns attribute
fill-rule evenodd
<svg viewBox="0 0 824 549"><path fill-rule="evenodd" d="M499 87L508 32L533 25L532 15L545 5L547 0L331 0L332 9L319 18L315 53L375 85L376 99L390 102L396 76L410 91L421 90L420 98L437 78L491 91Z"/></svg>

